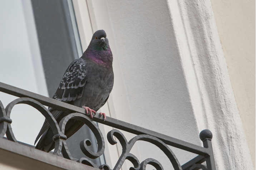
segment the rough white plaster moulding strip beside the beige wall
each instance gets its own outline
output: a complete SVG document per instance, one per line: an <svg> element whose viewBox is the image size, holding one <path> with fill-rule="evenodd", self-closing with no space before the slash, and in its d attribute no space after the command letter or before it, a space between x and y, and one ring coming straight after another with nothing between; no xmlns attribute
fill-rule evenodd
<svg viewBox="0 0 256 170"><path fill-rule="evenodd" d="M214 134L216 168L253 169L211 1L169 3L198 128L205 122Z"/></svg>

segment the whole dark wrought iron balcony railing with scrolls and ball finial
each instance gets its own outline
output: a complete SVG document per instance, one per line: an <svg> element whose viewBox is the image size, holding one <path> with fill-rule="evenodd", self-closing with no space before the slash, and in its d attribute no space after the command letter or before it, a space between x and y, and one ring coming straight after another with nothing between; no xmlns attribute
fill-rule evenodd
<svg viewBox="0 0 256 170"><path fill-rule="evenodd" d="M82 150L82 152L86 156L92 159L98 158L100 155L104 153L105 143L104 143L103 135L100 132L98 126L89 117L87 117L84 114L85 113L84 109L76 107L74 105L64 103L64 102L57 101L55 99L41 96L39 94L25 91L23 89L13 87L1 82L0 82L0 91L20 97L18 99L15 99L13 102L9 103L6 106L6 108L4 108L3 104L0 101L0 138L3 138L4 135L6 134L8 140L18 142L15 139L15 136L11 130L12 120L10 119L10 114L15 104L24 103L24 104L31 105L32 107L39 110L39 112L41 112L44 115L44 117L48 120L51 126L51 129L53 130L53 133L54 133L54 137L53 137L53 140L55 141L55 149L53 152L54 155L62 154L64 158L75 160L69 152L69 149L66 143L67 137L64 134L65 125L70 119L77 119L82 121L84 124L86 124L92 130L97 140L97 144L98 144L97 152L93 152L88 148L88 146L91 144L89 139L85 139L84 141L80 142L80 149ZM58 110L63 110L65 112L70 112L71 114L64 117L58 124L54 119L53 115L49 112L47 108L45 108L44 105L49 106L51 108L58 109ZM130 169L133 169L133 170L145 170L147 164L154 166L157 170L163 170L163 167L159 163L159 161L152 158L148 158L142 161L141 163L139 163L139 160L137 159L137 157L130 153L134 143L136 143L136 141L138 140L147 141L149 143L152 143L158 146L158 148L160 148L163 151L163 153L167 155L169 161L173 165L174 170L199 170L199 169L216 170L213 151L212 151L212 143L211 143L212 133L210 132L210 130L203 130L200 133L200 139L203 141L203 147L201 147L201 146L197 146L195 144L191 144L179 139L172 138L167 135L154 132L152 130L144 129L142 127L138 127L133 124L129 124L117 119L113 119L111 117L107 117L107 119L103 121L103 118L100 118L98 113L96 113L93 120L95 122L105 124L110 127L124 130L126 132L137 135L128 142L127 139L124 137L124 135L117 129L113 129L107 134L107 139L110 144L112 145L117 144L117 141L115 141L113 138L113 136L115 136L119 140L120 144L122 145L122 154L120 155L120 158L118 159L113 170L119 170L126 159L132 162L133 167ZM195 158L191 159L190 161L188 161L187 163L181 166L175 154L168 147L168 145L197 154L198 156L196 156ZM104 165L98 166L98 165L95 165L92 161L90 161L87 158L80 158L77 161L83 164L87 164L89 166L93 166L94 168L110 170L108 165L104 164ZM206 166L202 164L204 162L206 162Z"/></svg>

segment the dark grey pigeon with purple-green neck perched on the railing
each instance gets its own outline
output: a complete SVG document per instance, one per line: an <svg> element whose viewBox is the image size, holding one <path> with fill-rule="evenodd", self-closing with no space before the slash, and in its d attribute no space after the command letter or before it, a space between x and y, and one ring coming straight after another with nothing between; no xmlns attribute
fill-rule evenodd
<svg viewBox="0 0 256 170"><path fill-rule="evenodd" d="M104 30L98 30L93 34L90 44L82 57L74 60L64 73L63 78L53 98L73 104L85 109L85 114L93 119L99 108L108 100L114 83L113 55L109 47L108 38ZM62 118L70 113L48 108L59 123ZM105 113L100 113L106 119ZM79 120L71 119L66 125L67 138L77 132L84 124ZM40 138L41 136L41 138ZM36 149L49 152L54 149L53 131L45 120L36 141Z"/></svg>

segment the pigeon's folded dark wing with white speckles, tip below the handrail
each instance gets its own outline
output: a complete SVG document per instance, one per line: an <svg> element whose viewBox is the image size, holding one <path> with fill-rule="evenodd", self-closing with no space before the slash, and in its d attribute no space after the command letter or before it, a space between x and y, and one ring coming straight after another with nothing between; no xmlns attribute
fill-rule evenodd
<svg viewBox="0 0 256 170"><path fill-rule="evenodd" d="M86 75L86 62L82 58L74 60L66 70L57 91L53 95L53 98L66 103L81 98L83 95L85 83L87 81ZM49 108L49 110L55 119L57 119L60 114L63 113L62 111L52 108ZM45 120L43 127L36 137L35 143L49 127L50 125L48 121Z"/></svg>

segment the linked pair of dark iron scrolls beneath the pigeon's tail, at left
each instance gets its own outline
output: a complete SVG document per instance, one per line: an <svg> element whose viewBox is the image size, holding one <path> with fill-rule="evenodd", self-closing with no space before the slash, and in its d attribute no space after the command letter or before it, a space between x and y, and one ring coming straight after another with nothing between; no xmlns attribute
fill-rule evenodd
<svg viewBox="0 0 256 170"><path fill-rule="evenodd" d="M98 144L98 151L97 153L94 153L93 151L89 150L88 146L90 146L92 143L89 139L85 139L80 142L80 149L82 152L88 156L89 158L96 159L100 155L104 153L105 149L105 143L102 133L100 132L98 126L92 122L92 120L87 117L85 114L81 113L71 113L64 117L59 125L56 122L53 115L49 112L49 110L39 103L38 101L35 101L34 99L27 98L27 97L21 97L18 99L15 99L14 101L10 102L6 108L4 108L3 103L0 101L0 138L3 138L6 134L6 137L8 140L14 141L18 143L16 140L14 133L11 128L12 120L10 119L11 110L13 109L14 105L16 104L28 104L35 109L37 109L40 113L42 113L45 117L45 119L49 122L51 129L53 130L53 140L55 141L55 149L53 152L53 155L59 156L61 153L64 158L74 160L73 156L70 154L66 139L67 136L65 136L65 125L70 119L77 119L82 121L84 124L86 124L95 135L95 138L97 139ZM78 160L78 162L93 166L94 168L104 169L104 170L110 170L109 166L106 164L103 165L95 165L92 163L92 161L88 160L87 158L81 158Z"/></svg>

